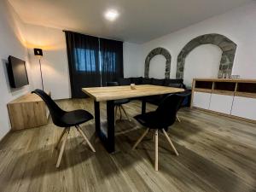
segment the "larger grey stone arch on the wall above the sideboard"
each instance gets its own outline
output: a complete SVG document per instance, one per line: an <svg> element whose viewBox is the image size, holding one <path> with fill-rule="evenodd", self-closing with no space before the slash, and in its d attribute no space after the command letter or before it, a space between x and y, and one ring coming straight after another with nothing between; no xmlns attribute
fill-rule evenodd
<svg viewBox="0 0 256 192"><path fill-rule="evenodd" d="M224 76L229 77L232 73L233 62L236 54L236 44L223 35L211 33L194 38L183 47L177 56L176 78L183 79L185 59L187 55L189 55L191 50L201 44L215 44L223 51L219 64L218 78L222 78L223 74Z"/></svg>

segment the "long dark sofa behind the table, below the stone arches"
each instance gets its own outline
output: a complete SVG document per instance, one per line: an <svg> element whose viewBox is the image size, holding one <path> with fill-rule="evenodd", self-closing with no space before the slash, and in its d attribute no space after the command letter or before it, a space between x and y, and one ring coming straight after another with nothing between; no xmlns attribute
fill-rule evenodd
<svg viewBox="0 0 256 192"><path fill-rule="evenodd" d="M176 88L183 88L186 92L191 92L191 90L187 90L185 84L183 84L183 79L154 79L154 78L122 78L118 80L119 85L130 85L130 84L154 84L154 85L161 85L161 86L169 86L169 87L176 87ZM159 96L146 96L143 99L146 102L149 102L154 105L159 105L160 101L166 95L159 95ZM141 98L139 98L141 99ZM183 102L183 106L189 106L189 98L186 98L185 102Z"/></svg>

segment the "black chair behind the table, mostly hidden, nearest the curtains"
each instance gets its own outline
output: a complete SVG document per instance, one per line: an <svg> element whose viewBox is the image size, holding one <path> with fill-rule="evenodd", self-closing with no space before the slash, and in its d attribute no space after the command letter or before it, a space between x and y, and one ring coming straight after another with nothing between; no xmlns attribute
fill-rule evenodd
<svg viewBox="0 0 256 192"><path fill-rule="evenodd" d="M107 86L119 86L118 82L107 82ZM131 121L131 119L129 118L129 115L126 113L125 108L123 107L123 104L126 104L130 102L130 99L119 99L119 100L115 100L113 102L114 104L114 122L117 119L117 112L119 109L119 114L120 114L120 118L122 119L122 111L125 113L126 118Z"/></svg>

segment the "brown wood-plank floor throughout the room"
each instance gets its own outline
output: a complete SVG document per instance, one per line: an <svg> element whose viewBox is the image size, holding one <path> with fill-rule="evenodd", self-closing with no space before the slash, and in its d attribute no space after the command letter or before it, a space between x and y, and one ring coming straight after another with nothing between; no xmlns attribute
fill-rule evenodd
<svg viewBox="0 0 256 192"><path fill-rule="evenodd" d="M86 108L93 113L89 99L58 103L67 110ZM140 107L137 101L125 105L131 116L140 113ZM104 103L101 110L104 123ZM59 169L54 145L61 128L49 120L44 127L11 132L0 143L0 192L256 191L255 124L189 108L178 114L181 122L168 134L179 156L160 135L159 172L154 172L151 134L131 151L143 133L134 120L117 122L115 154L108 154L95 137L93 120L82 128L96 154L73 129Z"/></svg>

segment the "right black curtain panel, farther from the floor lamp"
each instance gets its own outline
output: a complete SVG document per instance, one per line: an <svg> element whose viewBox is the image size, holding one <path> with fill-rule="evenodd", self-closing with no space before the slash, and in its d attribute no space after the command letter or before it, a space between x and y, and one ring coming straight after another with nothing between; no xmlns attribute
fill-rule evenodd
<svg viewBox="0 0 256 192"><path fill-rule="evenodd" d="M123 42L100 38L102 86L124 77Z"/></svg>

